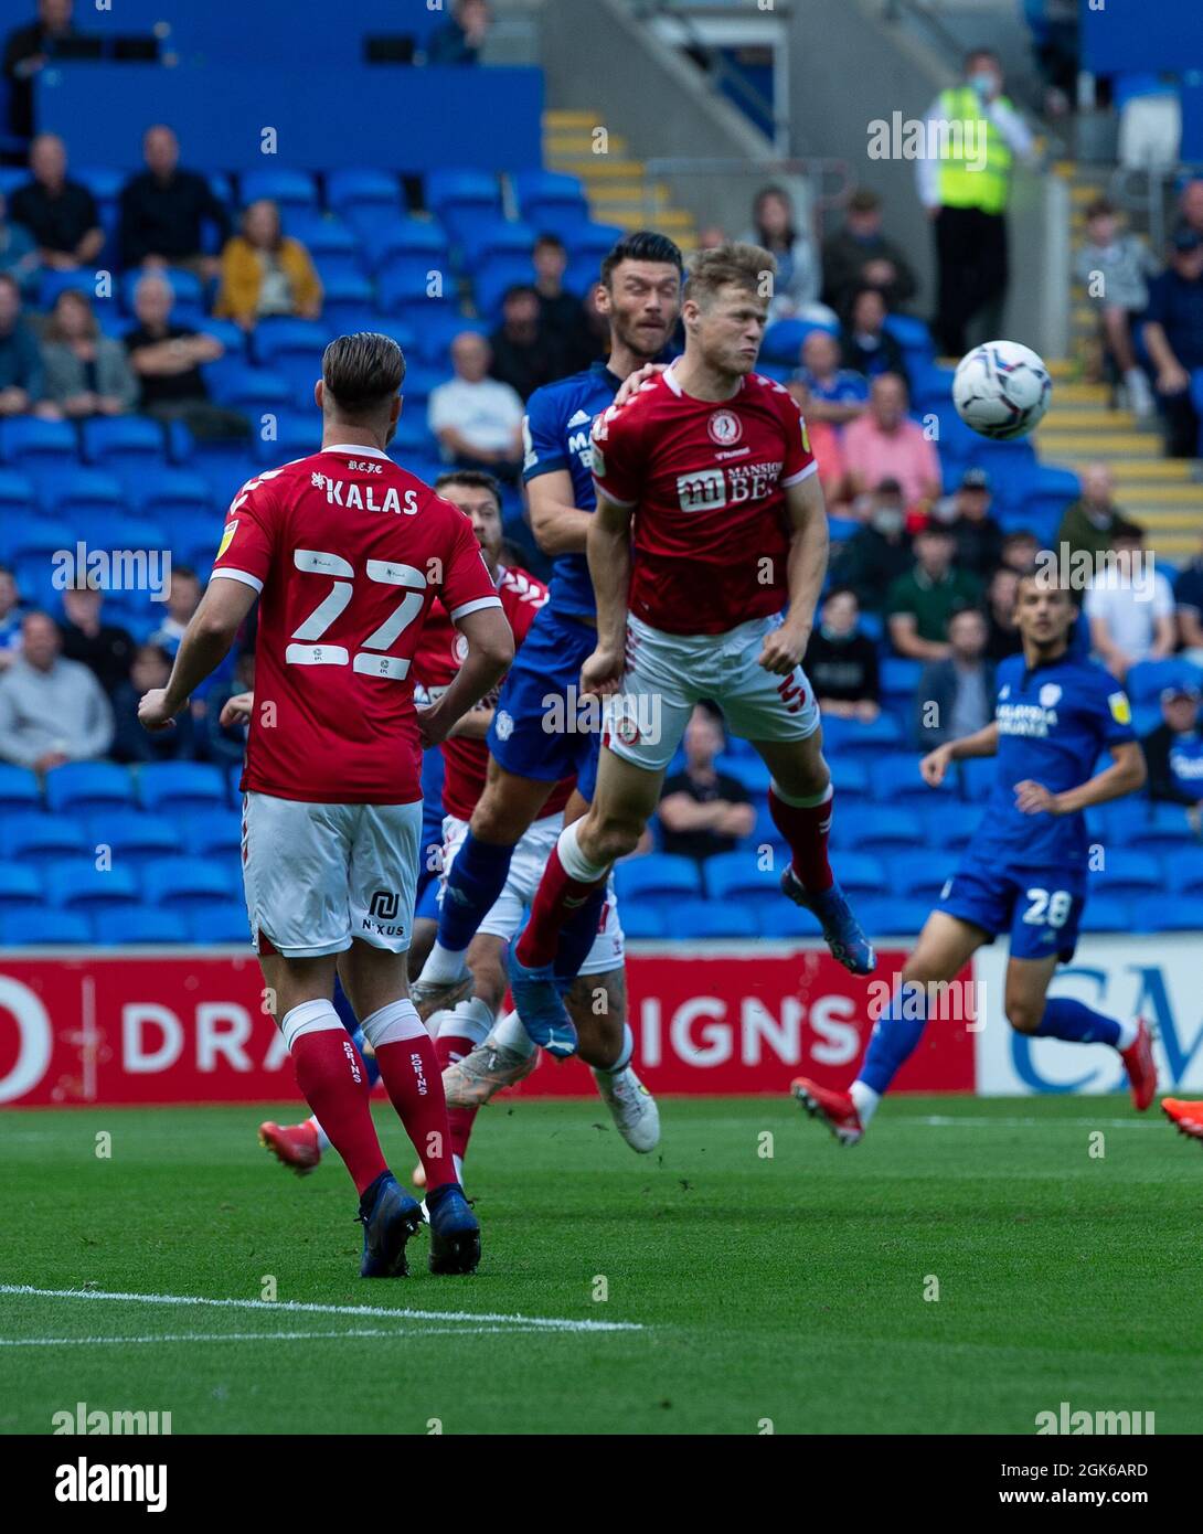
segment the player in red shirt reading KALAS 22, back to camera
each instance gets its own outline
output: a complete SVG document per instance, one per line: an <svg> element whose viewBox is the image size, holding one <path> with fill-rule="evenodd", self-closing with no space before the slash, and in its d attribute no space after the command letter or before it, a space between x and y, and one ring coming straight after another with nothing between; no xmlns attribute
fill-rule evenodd
<svg viewBox="0 0 1203 1534"><path fill-rule="evenodd" d="M167 687L138 710L147 729L169 729L259 600L242 773L247 911L298 1086L359 1192L365 1278L408 1272L405 1244L422 1212L381 1152L364 1062L333 1006L336 966L427 1169L431 1270L471 1272L480 1255L405 950L422 746L442 741L513 658L471 525L385 454L404 376L385 336L327 347L315 391L321 451L238 492ZM419 721L410 667L436 597L466 655Z"/></svg>

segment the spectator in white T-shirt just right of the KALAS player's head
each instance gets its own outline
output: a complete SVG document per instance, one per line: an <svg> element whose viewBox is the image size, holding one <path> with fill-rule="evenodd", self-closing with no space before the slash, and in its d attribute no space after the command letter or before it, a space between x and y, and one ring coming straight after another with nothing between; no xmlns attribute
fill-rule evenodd
<svg viewBox="0 0 1203 1534"><path fill-rule="evenodd" d="M430 430L443 459L514 480L522 460L522 397L488 376L489 344L474 330L451 342L456 376L430 393Z"/></svg>

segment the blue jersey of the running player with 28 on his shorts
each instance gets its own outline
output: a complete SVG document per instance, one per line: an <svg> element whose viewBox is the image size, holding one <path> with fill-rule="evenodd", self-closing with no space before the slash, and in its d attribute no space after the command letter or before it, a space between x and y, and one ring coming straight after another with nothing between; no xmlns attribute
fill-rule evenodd
<svg viewBox="0 0 1203 1534"><path fill-rule="evenodd" d="M1085 815L1023 815L1014 785L1031 778L1050 793L1065 793L1094 776L1102 752L1134 741L1123 687L1096 661L1071 653L1034 670L1022 655L1008 655L997 667L994 718L997 778L973 858L1013 868L1085 870Z"/></svg>

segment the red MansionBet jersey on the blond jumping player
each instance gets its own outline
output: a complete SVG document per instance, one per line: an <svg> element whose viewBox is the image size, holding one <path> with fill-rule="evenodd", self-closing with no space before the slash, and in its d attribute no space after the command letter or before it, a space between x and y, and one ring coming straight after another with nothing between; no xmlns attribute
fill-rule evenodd
<svg viewBox="0 0 1203 1534"><path fill-rule="evenodd" d="M672 368L594 422L597 488L634 506L628 607L667 634L724 634L779 612L786 488L818 472L789 390L758 373L723 403Z"/></svg>

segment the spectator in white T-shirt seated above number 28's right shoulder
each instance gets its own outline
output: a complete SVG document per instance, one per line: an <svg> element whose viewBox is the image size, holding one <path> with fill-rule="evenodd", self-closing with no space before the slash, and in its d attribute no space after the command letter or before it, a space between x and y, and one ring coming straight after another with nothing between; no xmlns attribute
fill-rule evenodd
<svg viewBox="0 0 1203 1534"><path fill-rule="evenodd" d="M1106 669L1123 681L1137 661L1174 653L1174 594L1145 554L1145 529L1120 522L1111 534L1116 561L1099 571L1082 611L1091 643Z"/></svg>

